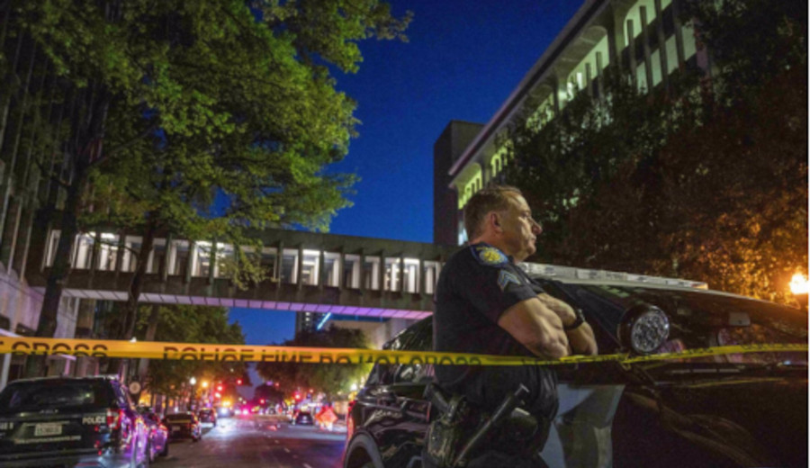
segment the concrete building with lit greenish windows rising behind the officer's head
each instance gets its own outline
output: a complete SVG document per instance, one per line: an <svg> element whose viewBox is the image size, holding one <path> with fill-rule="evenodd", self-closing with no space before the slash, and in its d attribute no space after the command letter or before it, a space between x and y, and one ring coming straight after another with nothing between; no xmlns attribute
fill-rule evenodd
<svg viewBox="0 0 810 468"><path fill-rule="evenodd" d="M451 121L437 139L434 241L466 241L464 204L500 180L509 164L502 146L509 125L527 111L537 121L554 119L579 93L605 96L604 70L613 65L642 93L667 86L679 69L709 69L692 26L680 21L678 0L585 1L490 121ZM529 103L536 107L527 109Z"/></svg>

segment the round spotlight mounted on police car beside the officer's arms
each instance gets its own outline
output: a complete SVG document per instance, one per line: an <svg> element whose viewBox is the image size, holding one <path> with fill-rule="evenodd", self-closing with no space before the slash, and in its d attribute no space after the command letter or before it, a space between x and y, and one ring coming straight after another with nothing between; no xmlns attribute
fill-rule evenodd
<svg viewBox="0 0 810 468"><path fill-rule="evenodd" d="M670 319L654 305L637 305L622 317L618 338L637 354L652 354L670 338Z"/></svg>

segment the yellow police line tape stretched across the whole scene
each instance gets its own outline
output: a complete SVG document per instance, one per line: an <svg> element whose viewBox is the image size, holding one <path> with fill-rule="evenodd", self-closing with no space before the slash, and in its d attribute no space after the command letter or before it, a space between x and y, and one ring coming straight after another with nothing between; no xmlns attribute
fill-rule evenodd
<svg viewBox="0 0 810 468"><path fill-rule="evenodd" d="M381 351L333 347L252 347L245 345L131 342L76 338L0 337L0 354L40 356L144 357L193 361L241 361L312 364L437 364L437 365L566 365L617 361L632 364L739 353L807 351L806 343L705 347L649 356L627 354L568 356L545 360L523 356L489 356L432 351Z"/></svg>

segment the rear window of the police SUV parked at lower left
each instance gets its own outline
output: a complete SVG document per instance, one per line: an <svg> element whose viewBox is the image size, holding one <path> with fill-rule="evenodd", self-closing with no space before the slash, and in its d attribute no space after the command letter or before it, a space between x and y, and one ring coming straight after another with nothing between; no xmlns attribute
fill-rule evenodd
<svg viewBox="0 0 810 468"><path fill-rule="evenodd" d="M0 414L25 410L110 406L109 385L93 381L41 380L12 383L0 393Z"/></svg>

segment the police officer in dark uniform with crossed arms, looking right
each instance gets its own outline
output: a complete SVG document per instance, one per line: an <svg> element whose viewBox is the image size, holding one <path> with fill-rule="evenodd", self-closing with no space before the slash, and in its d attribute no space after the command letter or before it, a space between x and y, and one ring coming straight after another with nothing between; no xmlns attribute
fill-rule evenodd
<svg viewBox="0 0 810 468"><path fill-rule="evenodd" d="M581 312L542 291L518 267L536 251L543 229L517 188L493 186L475 193L464 209L470 242L442 268L433 315L437 351L557 359L597 353L593 330ZM556 376L545 367L437 366L437 380L473 407L491 411L518 384L530 393L526 410L540 425L542 448L557 411ZM516 441L517 442L517 441ZM517 444L486 446L468 466L536 466Z"/></svg>

